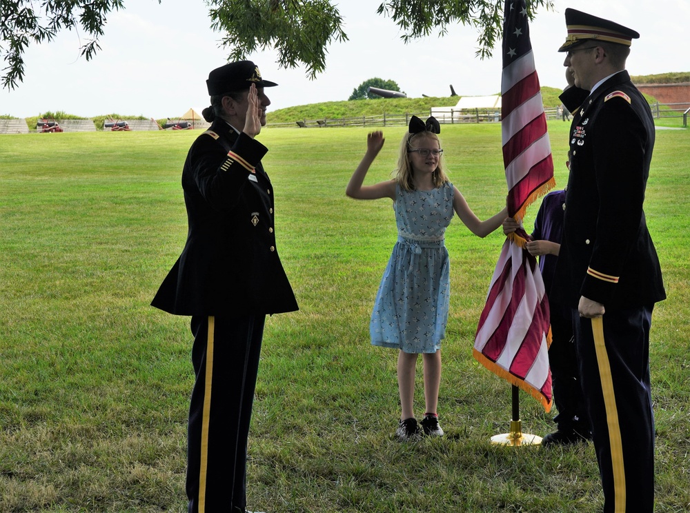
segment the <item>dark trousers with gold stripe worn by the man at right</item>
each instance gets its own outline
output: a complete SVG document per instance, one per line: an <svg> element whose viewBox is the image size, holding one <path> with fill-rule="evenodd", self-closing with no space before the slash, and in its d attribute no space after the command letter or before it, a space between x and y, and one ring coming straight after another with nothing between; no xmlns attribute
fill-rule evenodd
<svg viewBox="0 0 690 513"><path fill-rule="evenodd" d="M654 510L654 417L649 383L653 307L573 310L586 409L604 488L604 512Z"/></svg>

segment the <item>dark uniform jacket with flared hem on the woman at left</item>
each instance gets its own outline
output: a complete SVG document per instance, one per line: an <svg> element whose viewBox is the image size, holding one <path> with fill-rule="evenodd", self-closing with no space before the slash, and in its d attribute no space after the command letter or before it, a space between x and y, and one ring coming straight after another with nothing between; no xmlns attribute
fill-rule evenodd
<svg viewBox="0 0 690 513"><path fill-rule="evenodd" d="M297 310L275 244L267 151L223 120L197 137L182 172L187 242L153 306L229 317Z"/></svg>

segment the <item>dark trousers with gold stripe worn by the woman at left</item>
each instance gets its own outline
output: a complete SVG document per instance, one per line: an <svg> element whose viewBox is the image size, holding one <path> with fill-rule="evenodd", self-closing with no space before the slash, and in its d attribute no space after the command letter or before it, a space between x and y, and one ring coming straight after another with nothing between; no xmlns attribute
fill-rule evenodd
<svg viewBox="0 0 690 513"><path fill-rule="evenodd" d="M247 439L265 315L193 316L196 381L189 410L189 513L246 507Z"/></svg>

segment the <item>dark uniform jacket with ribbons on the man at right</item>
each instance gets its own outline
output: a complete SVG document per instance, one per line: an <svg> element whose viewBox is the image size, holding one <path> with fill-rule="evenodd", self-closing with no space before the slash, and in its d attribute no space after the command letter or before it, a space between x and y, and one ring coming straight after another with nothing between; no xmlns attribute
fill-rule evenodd
<svg viewBox="0 0 690 513"><path fill-rule="evenodd" d="M577 88L562 94L566 106L573 103L569 96L577 97ZM569 137L557 300L577 308L585 296L607 309L662 301L659 259L642 210L654 122L627 72L584 99L573 112Z"/></svg>

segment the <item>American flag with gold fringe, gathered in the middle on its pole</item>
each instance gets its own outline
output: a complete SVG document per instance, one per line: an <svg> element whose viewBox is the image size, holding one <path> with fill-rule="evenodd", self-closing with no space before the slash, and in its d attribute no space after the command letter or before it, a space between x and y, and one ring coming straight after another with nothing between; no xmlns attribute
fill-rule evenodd
<svg viewBox="0 0 690 513"><path fill-rule="evenodd" d="M539 79L524 0L507 0L503 24L502 139L508 214L526 208L555 185ZM521 223L522 224L522 223ZM506 239L475 335L477 361L551 410L549 301L522 228Z"/></svg>

